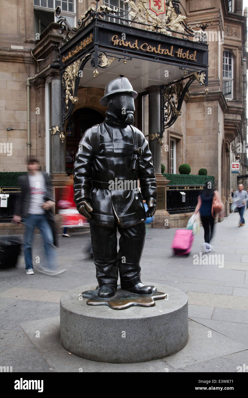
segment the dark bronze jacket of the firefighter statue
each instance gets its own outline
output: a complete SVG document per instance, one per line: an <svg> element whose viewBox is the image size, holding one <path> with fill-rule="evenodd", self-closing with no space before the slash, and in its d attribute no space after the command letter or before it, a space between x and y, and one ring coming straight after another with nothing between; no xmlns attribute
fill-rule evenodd
<svg viewBox="0 0 248 398"><path fill-rule="evenodd" d="M135 147L141 147L143 154L139 156L137 171L131 171ZM128 227L144 222L143 199L157 196L148 142L133 126L111 127L103 122L86 130L78 147L73 174L74 201L78 207L83 200L90 202L92 224L114 227L117 222L121 227ZM141 193L139 189L108 189L110 181L137 181L138 178Z"/></svg>

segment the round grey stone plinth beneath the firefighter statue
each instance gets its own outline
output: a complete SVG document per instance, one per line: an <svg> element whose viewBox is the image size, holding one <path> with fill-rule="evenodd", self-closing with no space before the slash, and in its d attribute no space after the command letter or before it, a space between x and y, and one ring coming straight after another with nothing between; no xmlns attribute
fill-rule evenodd
<svg viewBox="0 0 248 398"><path fill-rule="evenodd" d="M151 361L180 351L188 339L187 296L171 286L156 287L167 299L125 310L87 305L81 293L96 289L96 283L65 293L60 301L62 346L78 357L110 363Z"/></svg>

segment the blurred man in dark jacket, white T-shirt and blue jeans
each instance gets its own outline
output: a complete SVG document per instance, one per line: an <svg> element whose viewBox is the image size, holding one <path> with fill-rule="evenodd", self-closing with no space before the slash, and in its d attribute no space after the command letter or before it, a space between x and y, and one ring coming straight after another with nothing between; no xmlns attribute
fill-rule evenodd
<svg viewBox="0 0 248 398"><path fill-rule="evenodd" d="M33 275L32 240L35 226L39 228L44 241L47 266L39 271L47 275L58 275L65 271L57 269L55 222L53 217L53 189L47 173L40 171L39 161L30 156L27 163L28 174L19 177L21 193L18 195L12 222L25 222L23 252L27 275Z"/></svg>

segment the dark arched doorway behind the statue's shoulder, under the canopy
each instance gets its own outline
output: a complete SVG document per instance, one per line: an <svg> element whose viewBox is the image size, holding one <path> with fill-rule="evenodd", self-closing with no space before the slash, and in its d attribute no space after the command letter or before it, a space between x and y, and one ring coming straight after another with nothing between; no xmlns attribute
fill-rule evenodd
<svg viewBox="0 0 248 398"><path fill-rule="evenodd" d="M78 144L84 132L90 127L102 123L104 117L91 108L77 109L66 123L66 173L72 174Z"/></svg>

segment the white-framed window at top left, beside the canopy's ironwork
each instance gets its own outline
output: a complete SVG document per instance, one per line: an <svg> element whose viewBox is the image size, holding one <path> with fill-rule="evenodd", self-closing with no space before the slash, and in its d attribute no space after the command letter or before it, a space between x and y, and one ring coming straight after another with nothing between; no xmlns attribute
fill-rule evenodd
<svg viewBox="0 0 248 398"><path fill-rule="evenodd" d="M58 20L55 15L57 6L61 7L61 16L65 16L72 27L75 26L75 0L33 0L35 40L50 23Z"/></svg>

